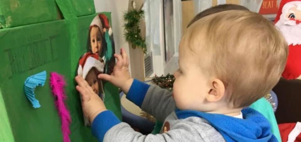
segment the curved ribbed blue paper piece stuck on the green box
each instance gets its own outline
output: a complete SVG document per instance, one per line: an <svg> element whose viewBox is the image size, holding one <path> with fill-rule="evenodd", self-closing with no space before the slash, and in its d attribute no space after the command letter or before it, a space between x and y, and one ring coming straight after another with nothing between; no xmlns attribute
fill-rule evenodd
<svg viewBox="0 0 301 142"><path fill-rule="evenodd" d="M46 71L29 76L24 83L24 92L34 108L40 108L40 103L34 97L34 89L37 86L44 86L46 80Z"/></svg>

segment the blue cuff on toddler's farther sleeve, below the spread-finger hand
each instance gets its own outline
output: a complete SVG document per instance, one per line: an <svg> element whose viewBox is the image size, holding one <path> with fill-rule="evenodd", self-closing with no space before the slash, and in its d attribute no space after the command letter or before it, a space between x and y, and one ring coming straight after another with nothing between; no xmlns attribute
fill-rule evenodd
<svg viewBox="0 0 301 142"><path fill-rule="evenodd" d="M134 79L126 98L141 108L142 102L149 88L149 84Z"/></svg>

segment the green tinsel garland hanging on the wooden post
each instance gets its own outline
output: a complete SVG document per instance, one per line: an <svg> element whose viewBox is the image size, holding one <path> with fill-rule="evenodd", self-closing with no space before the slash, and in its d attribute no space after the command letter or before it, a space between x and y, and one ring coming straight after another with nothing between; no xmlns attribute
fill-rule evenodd
<svg viewBox="0 0 301 142"><path fill-rule="evenodd" d="M124 38L127 42L132 43L133 48L137 46L147 52L145 40L140 36L140 20L144 18L144 11L131 10L124 13Z"/></svg>

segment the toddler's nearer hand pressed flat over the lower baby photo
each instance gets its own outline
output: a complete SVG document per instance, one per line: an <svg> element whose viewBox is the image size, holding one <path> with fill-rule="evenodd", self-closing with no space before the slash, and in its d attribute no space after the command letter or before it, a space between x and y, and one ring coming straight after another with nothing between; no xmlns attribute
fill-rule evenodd
<svg viewBox="0 0 301 142"><path fill-rule="evenodd" d="M107 110L103 101L94 93L86 80L82 77L75 77L77 82L76 89L82 97L82 111L92 123L94 118L101 112Z"/></svg>

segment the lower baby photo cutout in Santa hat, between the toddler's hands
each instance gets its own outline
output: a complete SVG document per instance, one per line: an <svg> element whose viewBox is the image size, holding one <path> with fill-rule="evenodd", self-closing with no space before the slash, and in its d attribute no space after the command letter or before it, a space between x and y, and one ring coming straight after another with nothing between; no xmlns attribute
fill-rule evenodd
<svg viewBox="0 0 301 142"><path fill-rule="evenodd" d="M90 52L85 53L82 58L79 59L79 66L77 74L82 76L83 79L92 87L95 94L104 100L104 91L102 81L98 80L97 75L103 73L104 63L98 54ZM85 125L90 125L87 118L84 117Z"/></svg>

